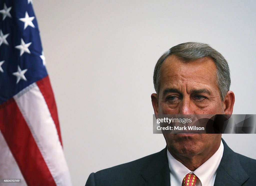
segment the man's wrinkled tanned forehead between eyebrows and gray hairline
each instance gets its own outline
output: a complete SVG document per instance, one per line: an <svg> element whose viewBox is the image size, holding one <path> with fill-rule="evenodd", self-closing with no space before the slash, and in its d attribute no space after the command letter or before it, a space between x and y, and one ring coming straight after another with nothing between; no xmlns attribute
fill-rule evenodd
<svg viewBox="0 0 256 186"><path fill-rule="evenodd" d="M176 55L168 56L160 71L160 90L165 86L182 84L209 86L218 89L216 85L216 65L210 57L203 57L184 63Z"/></svg>

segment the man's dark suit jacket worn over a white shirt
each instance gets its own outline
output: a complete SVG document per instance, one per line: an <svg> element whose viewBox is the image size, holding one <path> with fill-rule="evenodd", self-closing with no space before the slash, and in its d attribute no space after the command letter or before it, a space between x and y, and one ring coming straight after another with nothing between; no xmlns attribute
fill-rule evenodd
<svg viewBox="0 0 256 186"><path fill-rule="evenodd" d="M215 186L256 185L256 160L233 152L225 141ZM86 186L170 185L167 148L108 169L91 173ZM180 186L180 185L178 185Z"/></svg>

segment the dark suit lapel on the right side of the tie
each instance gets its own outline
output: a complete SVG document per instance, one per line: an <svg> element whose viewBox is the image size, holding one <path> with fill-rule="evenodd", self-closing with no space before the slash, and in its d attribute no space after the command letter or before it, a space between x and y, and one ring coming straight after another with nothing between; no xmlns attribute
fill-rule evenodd
<svg viewBox="0 0 256 186"><path fill-rule="evenodd" d="M240 161L236 155L222 139L224 152L217 169L214 186L227 185L235 186L242 185L249 176L243 170Z"/></svg>

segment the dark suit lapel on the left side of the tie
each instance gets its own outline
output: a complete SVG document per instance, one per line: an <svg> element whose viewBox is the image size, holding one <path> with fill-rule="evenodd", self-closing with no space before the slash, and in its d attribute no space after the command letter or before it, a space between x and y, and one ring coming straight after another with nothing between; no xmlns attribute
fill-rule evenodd
<svg viewBox="0 0 256 186"><path fill-rule="evenodd" d="M167 159L167 148L159 152L157 158L152 158L141 175L145 185L170 185L170 171Z"/></svg>

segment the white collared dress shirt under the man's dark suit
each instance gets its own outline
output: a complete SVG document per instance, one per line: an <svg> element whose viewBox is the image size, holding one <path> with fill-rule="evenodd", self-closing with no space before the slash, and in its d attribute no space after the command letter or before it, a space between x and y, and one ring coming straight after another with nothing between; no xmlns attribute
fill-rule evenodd
<svg viewBox="0 0 256 186"><path fill-rule="evenodd" d="M197 176L195 186L213 186L216 171L223 155L224 146L222 141L218 150L205 163L198 167L195 171L189 170L185 165L176 160L167 150L167 158L170 169L171 186L181 186L184 176L187 173L194 173Z"/></svg>

